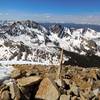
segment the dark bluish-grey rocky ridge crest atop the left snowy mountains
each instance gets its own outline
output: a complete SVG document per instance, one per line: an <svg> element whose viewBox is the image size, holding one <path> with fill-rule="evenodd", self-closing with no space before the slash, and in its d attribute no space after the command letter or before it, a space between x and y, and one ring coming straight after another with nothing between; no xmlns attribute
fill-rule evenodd
<svg viewBox="0 0 100 100"><path fill-rule="evenodd" d="M27 28L33 28L33 29L38 29L38 30L42 31L40 24L38 24L35 21L30 21L30 20L17 21L17 22L12 23L11 25L2 26L1 30L5 31L5 33L8 33L11 36L18 36L18 35L21 35L21 34L30 33L27 30Z"/></svg>

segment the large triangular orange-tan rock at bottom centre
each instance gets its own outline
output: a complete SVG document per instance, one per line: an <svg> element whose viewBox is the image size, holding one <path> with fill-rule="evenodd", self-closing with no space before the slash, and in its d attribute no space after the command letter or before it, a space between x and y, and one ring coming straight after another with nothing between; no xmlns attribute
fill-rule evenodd
<svg viewBox="0 0 100 100"><path fill-rule="evenodd" d="M40 83L35 98L43 100L57 100L59 96L60 92L56 84L51 79L44 78Z"/></svg>

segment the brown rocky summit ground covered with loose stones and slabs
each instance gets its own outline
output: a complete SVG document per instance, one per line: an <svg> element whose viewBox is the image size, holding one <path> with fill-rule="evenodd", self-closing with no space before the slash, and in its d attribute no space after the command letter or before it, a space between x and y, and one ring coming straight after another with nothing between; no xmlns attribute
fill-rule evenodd
<svg viewBox="0 0 100 100"><path fill-rule="evenodd" d="M0 83L0 100L100 100L100 69L13 65L10 79Z"/></svg>

